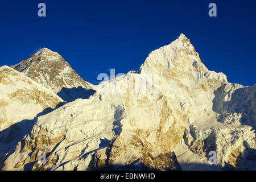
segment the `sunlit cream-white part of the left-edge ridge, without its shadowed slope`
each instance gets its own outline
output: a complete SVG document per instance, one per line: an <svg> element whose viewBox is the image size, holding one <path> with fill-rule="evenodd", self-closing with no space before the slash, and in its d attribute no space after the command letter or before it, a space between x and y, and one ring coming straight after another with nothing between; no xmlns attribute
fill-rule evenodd
<svg viewBox="0 0 256 182"><path fill-rule="evenodd" d="M52 90L8 66L0 67L0 88L0 130L63 102Z"/></svg>

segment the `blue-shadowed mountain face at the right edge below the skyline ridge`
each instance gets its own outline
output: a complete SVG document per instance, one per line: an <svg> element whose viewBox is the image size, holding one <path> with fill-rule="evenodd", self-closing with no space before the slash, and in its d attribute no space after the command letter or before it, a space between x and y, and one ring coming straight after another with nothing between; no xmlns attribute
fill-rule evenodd
<svg viewBox="0 0 256 182"><path fill-rule="evenodd" d="M241 122L244 125L256 127L256 85L242 86L239 84L222 85L214 91L213 110L220 114L218 121L236 125ZM241 121L234 116L240 115ZM231 120L228 118L232 118ZM239 118L239 116L238 116Z"/></svg>

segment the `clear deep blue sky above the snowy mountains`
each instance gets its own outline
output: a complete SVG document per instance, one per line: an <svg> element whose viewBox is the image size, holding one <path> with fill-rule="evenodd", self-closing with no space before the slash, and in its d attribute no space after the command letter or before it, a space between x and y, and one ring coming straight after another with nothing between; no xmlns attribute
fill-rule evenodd
<svg viewBox="0 0 256 182"><path fill-rule="evenodd" d="M38 4L46 3L46 17ZM217 5L217 17L208 5ZM148 53L181 32L209 70L229 82L254 85L256 2L205 1L0 1L0 65L13 65L40 48L59 52L84 80L98 73L137 70Z"/></svg>

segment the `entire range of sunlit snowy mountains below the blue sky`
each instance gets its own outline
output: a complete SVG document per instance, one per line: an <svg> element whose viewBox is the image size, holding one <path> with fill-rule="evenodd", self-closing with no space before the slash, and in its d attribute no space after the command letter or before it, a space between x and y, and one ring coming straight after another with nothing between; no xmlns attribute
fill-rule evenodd
<svg viewBox="0 0 256 182"><path fill-rule="evenodd" d="M0 88L3 171L255 170L256 85L209 71L184 34L98 85L43 48Z"/></svg>

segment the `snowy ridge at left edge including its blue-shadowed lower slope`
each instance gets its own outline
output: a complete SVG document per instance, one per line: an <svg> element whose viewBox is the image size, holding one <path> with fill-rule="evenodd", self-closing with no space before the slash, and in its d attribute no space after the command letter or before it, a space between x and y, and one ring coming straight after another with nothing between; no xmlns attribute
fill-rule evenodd
<svg viewBox="0 0 256 182"><path fill-rule="evenodd" d="M13 68L0 67L0 163L36 118L63 104L52 90Z"/></svg>

